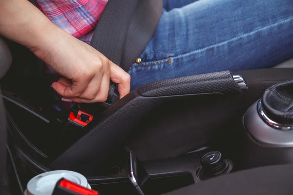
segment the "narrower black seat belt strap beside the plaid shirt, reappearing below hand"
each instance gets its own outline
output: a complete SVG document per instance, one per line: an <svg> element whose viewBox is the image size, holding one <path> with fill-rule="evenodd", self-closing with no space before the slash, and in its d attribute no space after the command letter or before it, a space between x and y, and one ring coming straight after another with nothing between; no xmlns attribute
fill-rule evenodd
<svg viewBox="0 0 293 195"><path fill-rule="evenodd" d="M118 66L125 47L129 24L138 0L108 0L98 21L90 45ZM107 102L111 101L116 84L110 81Z"/></svg>

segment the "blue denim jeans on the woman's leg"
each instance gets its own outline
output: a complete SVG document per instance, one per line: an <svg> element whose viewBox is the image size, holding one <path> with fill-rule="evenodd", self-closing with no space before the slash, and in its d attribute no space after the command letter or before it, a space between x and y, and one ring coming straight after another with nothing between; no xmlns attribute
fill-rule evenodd
<svg viewBox="0 0 293 195"><path fill-rule="evenodd" d="M293 0L165 0L159 26L128 73L131 89L293 58Z"/></svg>

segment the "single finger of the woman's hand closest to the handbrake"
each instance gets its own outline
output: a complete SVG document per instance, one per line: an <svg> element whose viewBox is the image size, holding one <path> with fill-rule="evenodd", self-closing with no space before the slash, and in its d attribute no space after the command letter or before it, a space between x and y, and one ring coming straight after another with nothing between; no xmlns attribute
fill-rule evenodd
<svg viewBox="0 0 293 195"><path fill-rule="evenodd" d="M113 62L110 62L110 79L118 84L120 99L129 94L130 75Z"/></svg>

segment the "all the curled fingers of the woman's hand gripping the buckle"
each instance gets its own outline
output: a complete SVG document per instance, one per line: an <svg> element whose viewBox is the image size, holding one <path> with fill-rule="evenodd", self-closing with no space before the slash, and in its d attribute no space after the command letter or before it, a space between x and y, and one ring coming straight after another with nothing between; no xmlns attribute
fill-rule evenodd
<svg viewBox="0 0 293 195"><path fill-rule="evenodd" d="M120 98L130 92L130 75L122 68L107 60L103 69L96 71L93 76L81 76L71 81L60 78L52 83L52 87L63 97L63 101L79 103L104 102L107 100L110 79L118 84Z"/></svg>

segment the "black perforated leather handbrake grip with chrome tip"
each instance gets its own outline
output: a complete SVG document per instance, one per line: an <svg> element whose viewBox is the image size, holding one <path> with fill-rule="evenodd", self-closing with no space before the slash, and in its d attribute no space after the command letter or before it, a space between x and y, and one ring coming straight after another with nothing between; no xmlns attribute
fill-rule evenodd
<svg viewBox="0 0 293 195"><path fill-rule="evenodd" d="M247 88L241 76L230 71L172 78L146 84L138 89L144 97L178 96L190 94L222 93L241 94Z"/></svg>

